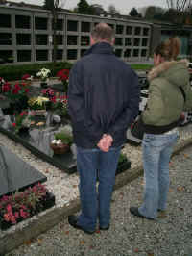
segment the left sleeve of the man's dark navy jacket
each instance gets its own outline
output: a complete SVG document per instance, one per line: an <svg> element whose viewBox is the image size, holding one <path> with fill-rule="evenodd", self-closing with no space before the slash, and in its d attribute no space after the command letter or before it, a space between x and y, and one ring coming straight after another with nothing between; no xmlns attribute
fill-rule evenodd
<svg viewBox="0 0 192 256"><path fill-rule="evenodd" d="M74 131L78 131L96 144L102 138L102 131L94 122L85 119L84 70L74 64L70 71L68 87L68 111ZM87 117L86 117L87 118Z"/></svg>

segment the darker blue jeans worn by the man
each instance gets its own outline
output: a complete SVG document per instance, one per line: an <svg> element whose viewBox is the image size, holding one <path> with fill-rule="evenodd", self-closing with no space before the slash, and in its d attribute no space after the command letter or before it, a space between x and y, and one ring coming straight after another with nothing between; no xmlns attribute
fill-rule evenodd
<svg viewBox="0 0 192 256"><path fill-rule="evenodd" d="M105 228L110 221L110 200L115 183L115 172L121 147L103 152L99 148L77 147L77 167L80 173L80 199L82 213L78 224L87 231L94 231L99 218ZM96 188L99 180L98 192Z"/></svg>

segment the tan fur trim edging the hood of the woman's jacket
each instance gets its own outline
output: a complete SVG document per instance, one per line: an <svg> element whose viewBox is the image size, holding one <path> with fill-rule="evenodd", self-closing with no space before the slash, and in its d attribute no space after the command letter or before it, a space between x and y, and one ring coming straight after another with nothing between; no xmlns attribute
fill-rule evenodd
<svg viewBox="0 0 192 256"><path fill-rule="evenodd" d="M151 81L154 78L156 78L158 75L160 75L162 72L168 70L173 64L180 64L180 63L184 63L186 64L186 66L188 66L189 64L189 62L186 59L180 60L179 62L176 62L176 61L164 62L152 68L152 70L149 72L147 77L149 81Z"/></svg>

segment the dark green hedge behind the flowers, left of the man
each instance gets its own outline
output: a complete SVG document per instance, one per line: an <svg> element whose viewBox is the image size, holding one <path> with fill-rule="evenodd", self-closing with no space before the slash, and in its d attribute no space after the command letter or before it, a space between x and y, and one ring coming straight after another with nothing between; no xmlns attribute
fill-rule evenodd
<svg viewBox="0 0 192 256"><path fill-rule="evenodd" d="M0 66L1 77L6 81L20 80L24 74L31 74L36 78L36 73L41 68L48 68L51 70L51 77L56 76L60 69L66 68L70 69L72 64L66 62L45 63L45 64L22 64L22 65L2 65Z"/></svg>

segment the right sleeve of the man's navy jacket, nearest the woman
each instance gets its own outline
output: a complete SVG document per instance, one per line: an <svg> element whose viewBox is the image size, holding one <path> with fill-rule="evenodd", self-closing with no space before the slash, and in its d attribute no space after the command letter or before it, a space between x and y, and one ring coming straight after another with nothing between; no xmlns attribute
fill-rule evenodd
<svg viewBox="0 0 192 256"><path fill-rule="evenodd" d="M129 76L129 84L127 87L127 104L121 115L117 117L113 124L111 124L108 134L112 137L116 132L128 129L131 126L132 121L138 115L139 111L139 100L140 100L140 86L137 75L132 71Z"/></svg>

